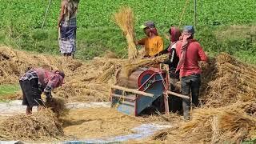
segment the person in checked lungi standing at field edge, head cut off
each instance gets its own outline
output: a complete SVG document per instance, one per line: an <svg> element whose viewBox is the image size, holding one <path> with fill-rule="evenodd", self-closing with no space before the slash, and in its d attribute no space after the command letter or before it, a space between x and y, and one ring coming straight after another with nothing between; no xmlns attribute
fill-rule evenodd
<svg viewBox="0 0 256 144"><path fill-rule="evenodd" d="M60 52L72 58L76 50L78 3L79 0L62 0L61 13L58 18Z"/></svg>

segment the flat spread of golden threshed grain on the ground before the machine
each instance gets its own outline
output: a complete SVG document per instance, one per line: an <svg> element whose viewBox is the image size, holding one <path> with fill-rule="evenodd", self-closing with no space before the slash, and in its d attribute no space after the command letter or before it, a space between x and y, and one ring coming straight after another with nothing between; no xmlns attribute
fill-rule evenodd
<svg viewBox="0 0 256 144"><path fill-rule="evenodd" d="M70 110L64 119L64 132L74 138L107 138L132 134L140 118L110 108Z"/></svg>

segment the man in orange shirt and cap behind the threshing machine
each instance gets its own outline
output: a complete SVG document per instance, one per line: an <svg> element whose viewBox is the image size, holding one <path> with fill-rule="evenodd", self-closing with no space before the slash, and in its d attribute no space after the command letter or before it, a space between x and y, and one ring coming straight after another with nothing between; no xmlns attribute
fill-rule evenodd
<svg viewBox="0 0 256 144"><path fill-rule="evenodd" d="M146 38L136 42L136 45L145 46L144 57L154 57L155 54L163 50L163 40L158 36L158 30L155 28L154 22L148 21L140 27L144 30Z"/></svg>

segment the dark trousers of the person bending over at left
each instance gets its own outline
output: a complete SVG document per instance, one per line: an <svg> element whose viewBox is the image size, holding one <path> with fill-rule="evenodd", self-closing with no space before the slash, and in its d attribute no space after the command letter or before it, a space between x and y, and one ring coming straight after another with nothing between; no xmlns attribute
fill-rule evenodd
<svg viewBox="0 0 256 144"><path fill-rule="evenodd" d="M38 87L38 78L31 79L30 81L19 81L19 83L23 94L22 105L30 107L43 105L42 92Z"/></svg>

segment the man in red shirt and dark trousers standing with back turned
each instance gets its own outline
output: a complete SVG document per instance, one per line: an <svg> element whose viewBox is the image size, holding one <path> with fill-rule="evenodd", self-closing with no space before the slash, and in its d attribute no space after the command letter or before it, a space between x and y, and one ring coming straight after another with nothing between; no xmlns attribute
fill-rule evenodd
<svg viewBox="0 0 256 144"><path fill-rule="evenodd" d="M182 94L192 96L194 106L198 106L198 95L201 86L201 72L198 61L207 62L207 56L201 45L194 39L194 27L185 26L180 41L177 42L176 52L179 62L176 71L180 70ZM190 97L191 98L191 97ZM183 115L190 119L190 99L182 100Z"/></svg>

